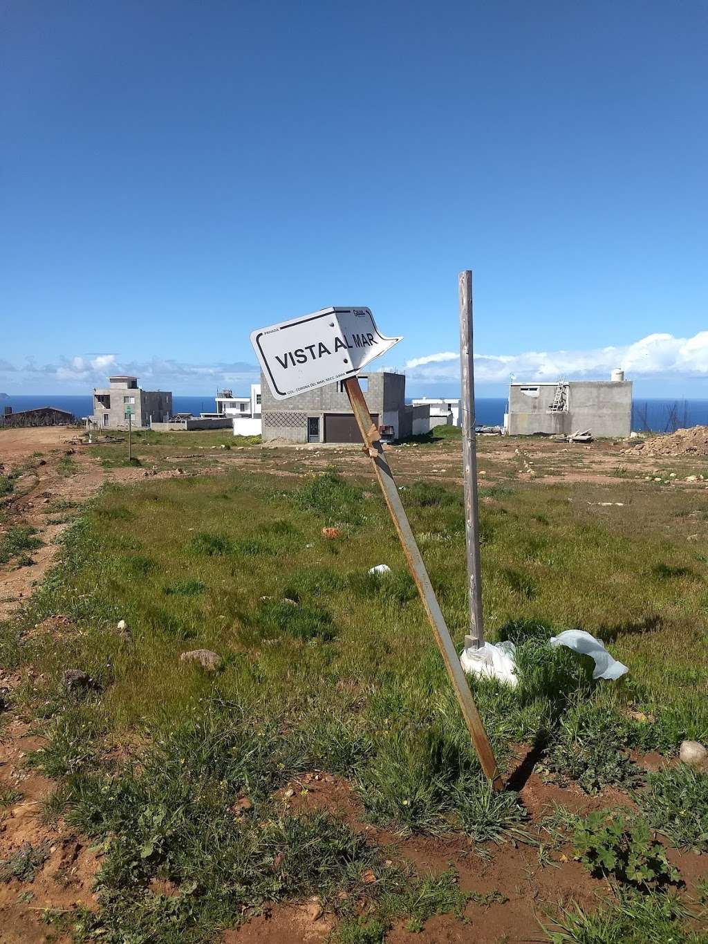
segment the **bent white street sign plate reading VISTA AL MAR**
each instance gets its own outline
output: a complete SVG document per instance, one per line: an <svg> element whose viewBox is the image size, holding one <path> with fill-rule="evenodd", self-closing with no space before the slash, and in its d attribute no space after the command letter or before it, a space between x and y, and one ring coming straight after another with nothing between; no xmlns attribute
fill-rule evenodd
<svg viewBox="0 0 708 944"><path fill-rule="evenodd" d="M323 308L251 331L251 344L278 400L353 377L400 340L379 334L368 308Z"/></svg>

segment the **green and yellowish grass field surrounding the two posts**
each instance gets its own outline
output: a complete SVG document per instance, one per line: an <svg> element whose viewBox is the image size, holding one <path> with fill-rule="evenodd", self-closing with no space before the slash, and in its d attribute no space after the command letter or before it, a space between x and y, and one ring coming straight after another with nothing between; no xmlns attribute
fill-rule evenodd
<svg viewBox="0 0 708 944"><path fill-rule="evenodd" d="M338 818L284 808L277 791L310 770L346 778L365 818L400 834L455 832L473 850L538 843L514 792L493 794L480 773L371 488L333 470L239 471L107 487L76 518L63 563L6 626L2 655L3 665L42 672L23 698L48 737L31 763L58 782L46 815L65 816L106 851L101 908L71 917L77 939L208 941L269 902L315 892L336 911L342 944L380 941L401 916L415 927L462 913L454 875L386 865ZM629 920L698 941L683 923L688 905L666 904L670 875L643 830L661 827L661 807L675 821L663 830L668 845L708 851L706 775L677 767L648 783L627 750L668 758L683 738L708 737L706 556L688 539L705 503L678 489L659 500L649 484L624 480L612 508L598 505L606 488L587 483L509 483L482 496L485 625L490 638L516 642L520 675L515 690L473 684L497 758L510 771L514 746L532 746L561 783L635 792L639 812L627 823L567 819L565 841L584 837L589 869L619 862L625 847L649 862L641 878L606 866L615 894L605 919L555 912L548 936L667 939L623 936ZM401 497L461 649L462 492L421 480ZM325 539L325 526L341 537ZM384 563L391 575L367 574ZM75 632L25 637L57 613ZM594 683L583 659L548 649L548 636L568 628L598 635L630 674ZM188 649L216 651L221 670L181 663ZM67 693L68 667L89 672L93 688ZM130 746L125 763L120 745ZM240 797L252 808L234 815ZM372 869L376 885L365 881ZM178 894L152 893L155 878Z"/></svg>

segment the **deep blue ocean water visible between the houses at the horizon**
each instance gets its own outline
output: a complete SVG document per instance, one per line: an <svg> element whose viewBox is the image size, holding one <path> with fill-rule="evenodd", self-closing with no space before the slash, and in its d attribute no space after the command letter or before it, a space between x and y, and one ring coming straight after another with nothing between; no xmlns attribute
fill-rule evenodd
<svg viewBox="0 0 708 944"><path fill-rule="evenodd" d="M506 399L503 396L480 397L475 401L477 422L484 426L501 426L504 422ZM12 410L31 410L34 407L52 406L68 410L75 416L92 413L92 396L66 396L64 394L14 395L0 399L0 408L11 406ZM213 396L173 396L175 413L213 413L216 409ZM632 404L632 430L670 432L683 426L708 425L708 400L640 399Z"/></svg>

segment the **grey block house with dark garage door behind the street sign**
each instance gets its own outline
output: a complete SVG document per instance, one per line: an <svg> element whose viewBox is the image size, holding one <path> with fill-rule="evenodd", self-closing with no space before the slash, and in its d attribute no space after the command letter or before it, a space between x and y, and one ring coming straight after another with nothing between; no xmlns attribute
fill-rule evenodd
<svg viewBox="0 0 708 944"><path fill-rule="evenodd" d="M387 438L403 439L427 432L430 407L406 403L406 378L392 371L372 372L359 378L374 422ZM261 375L262 441L289 443L359 443L361 436L340 380L287 400L277 400Z"/></svg>

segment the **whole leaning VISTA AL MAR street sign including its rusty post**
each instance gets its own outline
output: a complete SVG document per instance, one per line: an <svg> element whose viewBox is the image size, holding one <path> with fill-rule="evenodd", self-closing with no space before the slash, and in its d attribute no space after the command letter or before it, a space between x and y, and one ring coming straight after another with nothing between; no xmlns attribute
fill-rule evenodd
<svg viewBox="0 0 708 944"><path fill-rule="evenodd" d="M497 761L383 452L379 430L371 418L357 377L365 364L400 340L379 334L368 308L326 308L251 332L251 344L261 362L268 386L277 399L296 396L337 380L344 381L352 412L362 433L364 452L374 465L381 492L396 526L398 540L430 620L482 770L494 788L500 790L502 781Z"/></svg>

